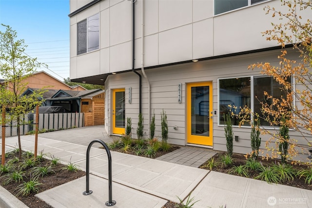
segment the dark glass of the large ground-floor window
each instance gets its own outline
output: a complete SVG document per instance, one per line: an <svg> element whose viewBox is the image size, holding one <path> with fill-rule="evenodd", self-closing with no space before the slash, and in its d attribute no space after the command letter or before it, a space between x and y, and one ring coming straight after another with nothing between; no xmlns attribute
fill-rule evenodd
<svg viewBox="0 0 312 208"><path fill-rule="evenodd" d="M291 78L288 78L291 82ZM273 77L268 76L249 76L228 79L219 79L219 124L224 124L224 115L233 112L236 116L232 117L232 124L239 125L238 114L240 107L247 106L253 112L262 115L261 102L270 104L271 100L266 99L264 91L268 92L273 98L285 97L285 92L281 90L282 85L276 82ZM230 106L236 106L237 109ZM262 117L262 116L261 116ZM249 124L245 124L249 125ZM260 118L260 125L269 124Z"/></svg>

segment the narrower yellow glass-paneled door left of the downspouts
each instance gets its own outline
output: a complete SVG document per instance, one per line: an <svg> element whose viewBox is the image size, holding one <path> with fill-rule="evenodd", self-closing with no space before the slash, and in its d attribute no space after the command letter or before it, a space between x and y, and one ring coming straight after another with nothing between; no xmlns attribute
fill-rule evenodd
<svg viewBox="0 0 312 208"><path fill-rule="evenodd" d="M125 133L125 89L113 89L113 134Z"/></svg>

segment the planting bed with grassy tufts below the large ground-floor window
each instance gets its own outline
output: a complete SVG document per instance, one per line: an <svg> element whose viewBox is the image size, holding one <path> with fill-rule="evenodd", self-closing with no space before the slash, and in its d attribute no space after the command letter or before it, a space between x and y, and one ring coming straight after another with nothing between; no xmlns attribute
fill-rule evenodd
<svg viewBox="0 0 312 208"><path fill-rule="evenodd" d="M309 180L312 179L311 166L292 165L290 162L283 165L281 160L262 160L261 157L247 160L245 155L235 153L231 165L225 166L225 156L226 152L217 153L200 168L312 190L312 180Z"/></svg>

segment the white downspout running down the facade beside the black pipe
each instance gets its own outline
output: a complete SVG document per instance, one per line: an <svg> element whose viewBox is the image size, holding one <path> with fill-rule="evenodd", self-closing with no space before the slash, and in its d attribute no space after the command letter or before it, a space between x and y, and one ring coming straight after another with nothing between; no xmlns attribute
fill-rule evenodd
<svg viewBox="0 0 312 208"><path fill-rule="evenodd" d="M142 74L144 76L144 78L147 81L147 85L148 85L148 92L147 92L147 96L148 96L148 100L147 100L147 104L148 104L148 138L150 138L151 136L151 132L150 132L150 124L151 124L151 83L148 80L145 71L144 71L144 0L142 0L142 5L141 5L141 71ZM153 138L150 138L153 139Z"/></svg>

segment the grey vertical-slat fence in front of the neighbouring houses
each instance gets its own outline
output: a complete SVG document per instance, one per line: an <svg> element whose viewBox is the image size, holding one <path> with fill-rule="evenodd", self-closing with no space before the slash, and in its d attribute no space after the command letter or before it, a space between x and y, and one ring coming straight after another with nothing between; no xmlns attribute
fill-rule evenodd
<svg viewBox="0 0 312 208"><path fill-rule="evenodd" d="M20 126L20 135L25 135L29 131L35 130L36 114L29 113L20 118L24 123L28 123ZM84 126L83 113L39 113L39 131L53 131L66 128L76 128ZM13 121L6 124L5 136L17 136L17 122ZM0 129L2 133L2 129Z"/></svg>

